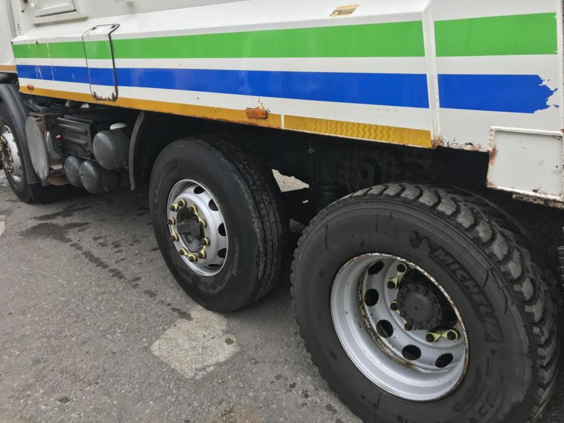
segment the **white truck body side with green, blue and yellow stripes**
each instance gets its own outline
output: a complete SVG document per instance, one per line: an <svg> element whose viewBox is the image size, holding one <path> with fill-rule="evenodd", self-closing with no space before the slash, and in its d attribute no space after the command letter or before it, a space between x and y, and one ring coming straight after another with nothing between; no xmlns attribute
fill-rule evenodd
<svg viewBox="0 0 564 423"><path fill-rule="evenodd" d="M562 201L559 0L389 0L343 14L340 6L5 0L14 23L3 14L0 57L5 70L13 66L15 33L20 88L30 94L93 101L97 90L124 107L494 152L491 187ZM357 37L355 27L365 32ZM81 54L83 42L109 46L108 31L111 54ZM269 116L249 118L248 108Z"/></svg>

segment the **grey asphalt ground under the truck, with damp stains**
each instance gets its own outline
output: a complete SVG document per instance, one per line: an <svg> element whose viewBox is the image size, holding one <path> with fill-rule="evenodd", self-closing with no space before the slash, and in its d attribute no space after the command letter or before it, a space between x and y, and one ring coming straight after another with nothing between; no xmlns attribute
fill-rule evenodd
<svg viewBox="0 0 564 423"><path fill-rule="evenodd" d="M541 422L564 421L559 385ZM162 261L146 192L27 205L0 171L0 422L59 421L358 419L312 365L288 281L208 312Z"/></svg>

